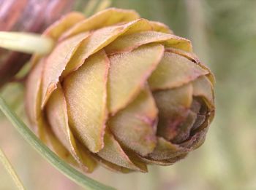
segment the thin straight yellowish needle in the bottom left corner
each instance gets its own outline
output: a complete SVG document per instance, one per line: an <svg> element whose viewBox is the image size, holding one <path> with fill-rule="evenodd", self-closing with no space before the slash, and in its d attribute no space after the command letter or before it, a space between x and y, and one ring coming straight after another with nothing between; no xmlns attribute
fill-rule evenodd
<svg viewBox="0 0 256 190"><path fill-rule="evenodd" d="M17 188L20 190L25 190L22 182L20 181L20 178L18 177L17 173L15 173L15 170L12 167L12 164L8 160L7 156L4 154L4 151L1 150L1 148L0 148L0 162L4 165L5 169L12 177L12 180L15 182L15 185L17 186Z"/></svg>

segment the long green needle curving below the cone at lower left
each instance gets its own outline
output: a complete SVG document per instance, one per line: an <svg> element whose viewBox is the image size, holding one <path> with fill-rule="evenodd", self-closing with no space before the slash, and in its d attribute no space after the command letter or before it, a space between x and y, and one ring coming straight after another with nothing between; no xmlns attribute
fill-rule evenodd
<svg viewBox="0 0 256 190"><path fill-rule="evenodd" d="M99 190L113 190L110 186L105 186L102 183L99 183L98 181L94 181L94 179L91 179L87 177L86 175L83 175L82 173L78 172L78 170L75 170L73 167L68 165L66 162L64 162L62 159L60 159L53 151L50 151L50 149L45 146L44 143L42 143L41 140L37 138L36 135L34 135L33 132L29 129L29 127L24 124L20 118L7 106L7 103L4 101L3 98L0 96L0 110L4 113L5 116L10 120L10 122L13 124L16 130L20 132L20 135L27 140L31 146L36 149L39 154L42 155L45 159L50 162L56 169L61 171L64 175L66 175L69 179L72 181L75 181L75 183L80 184L80 186L83 186L84 188L88 189L99 189Z"/></svg>

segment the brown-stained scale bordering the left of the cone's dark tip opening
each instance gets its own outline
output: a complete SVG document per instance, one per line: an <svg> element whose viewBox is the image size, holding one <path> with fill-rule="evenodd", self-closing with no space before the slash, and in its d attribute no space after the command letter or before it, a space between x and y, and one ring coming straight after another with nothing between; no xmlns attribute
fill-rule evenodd
<svg viewBox="0 0 256 190"><path fill-rule="evenodd" d="M192 85L187 84L172 90L154 92L154 99L159 109L157 135L172 140L180 132L189 114L192 103Z"/></svg>

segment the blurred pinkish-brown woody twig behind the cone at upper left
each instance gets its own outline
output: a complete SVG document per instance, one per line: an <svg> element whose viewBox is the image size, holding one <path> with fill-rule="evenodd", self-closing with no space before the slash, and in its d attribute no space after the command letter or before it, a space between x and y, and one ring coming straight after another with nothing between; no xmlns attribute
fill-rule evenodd
<svg viewBox="0 0 256 190"><path fill-rule="evenodd" d="M72 9L73 0L0 0L0 31L41 33ZM31 55L0 48L0 87L9 82Z"/></svg>

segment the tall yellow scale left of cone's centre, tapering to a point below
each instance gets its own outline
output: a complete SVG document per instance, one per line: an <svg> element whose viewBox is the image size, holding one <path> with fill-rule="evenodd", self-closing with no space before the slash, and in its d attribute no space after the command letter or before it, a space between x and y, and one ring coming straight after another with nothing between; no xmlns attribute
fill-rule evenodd
<svg viewBox="0 0 256 190"><path fill-rule="evenodd" d="M105 52L100 51L67 76L63 84L70 127L92 152L104 146L108 69L109 60Z"/></svg>

